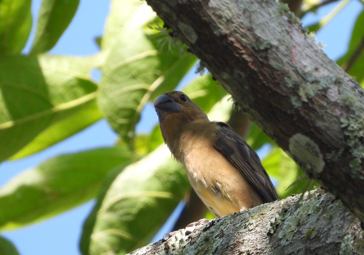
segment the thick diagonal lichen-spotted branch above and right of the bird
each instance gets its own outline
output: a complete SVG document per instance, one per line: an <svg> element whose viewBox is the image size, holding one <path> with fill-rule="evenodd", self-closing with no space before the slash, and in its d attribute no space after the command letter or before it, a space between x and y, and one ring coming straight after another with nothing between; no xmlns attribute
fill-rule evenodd
<svg viewBox="0 0 364 255"><path fill-rule="evenodd" d="M234 100L364 222L364 93L276 0L147 0Z"/></svg>

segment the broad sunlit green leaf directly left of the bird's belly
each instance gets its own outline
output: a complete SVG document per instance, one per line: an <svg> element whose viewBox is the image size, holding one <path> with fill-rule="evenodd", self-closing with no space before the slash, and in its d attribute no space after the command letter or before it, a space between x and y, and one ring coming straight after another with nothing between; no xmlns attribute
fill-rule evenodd
<svg viewBox="0 0 364 255"><path fill-rule="evenodd" d="M128 166L104 187L86 220L82 254L124 254L149 242L189 187L166 146Z"/></svg>

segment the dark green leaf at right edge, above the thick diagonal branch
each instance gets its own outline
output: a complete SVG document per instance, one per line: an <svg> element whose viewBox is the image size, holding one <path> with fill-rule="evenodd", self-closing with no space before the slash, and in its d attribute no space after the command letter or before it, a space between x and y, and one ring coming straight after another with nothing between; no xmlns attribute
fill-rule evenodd
<svg viewBox="0 0 364 255"><path fill-rule="evenodd" d="M337 64L341 66L348 74L355 78L359 83L364 82L364 11L358 16L353 28L351 40L347 53L337 60Z"/></svg>

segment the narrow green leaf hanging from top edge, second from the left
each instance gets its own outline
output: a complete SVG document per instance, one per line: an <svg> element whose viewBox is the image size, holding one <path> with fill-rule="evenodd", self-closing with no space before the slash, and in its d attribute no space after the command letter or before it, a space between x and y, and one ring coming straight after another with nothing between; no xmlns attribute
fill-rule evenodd
<svg viewBox="0 0 364 255"><path fill-rule="evenodd" d="M79 0L43 0L30 54L47 52L56 45L73 19Z"/></svg>

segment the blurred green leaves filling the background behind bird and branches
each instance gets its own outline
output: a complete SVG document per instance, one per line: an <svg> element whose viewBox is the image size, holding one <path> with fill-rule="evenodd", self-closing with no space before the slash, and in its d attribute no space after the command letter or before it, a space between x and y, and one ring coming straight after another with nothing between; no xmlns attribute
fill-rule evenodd
<svg viewBox="0 0 364 255"><path fill-rule="evenodd" d="M349 1L334 2L305 0L299 16L331 3L332 11L308 27L319 31ZM174 90L197 58L139 0L111 1L104 34L96 39L99 53L48 54L78 5L79 0L43 0L38 17L32 19L31 1L0 1L0 161L35 154L101 118L120 139L114 147L60 155L14 177L0 188L0 228L23 227L96 198L80 249L83 254L124 254L148 243L190 189L182 166L163 146L159 126L149 134L135 134L135 125L145 105ZM32 21L35 37L24 55ZM364 12L356 20L347 52L338 60L361 84L363 24ZM95 68L102 73L97 84L90 77ZM232 101L210 74L198 76L183 91L209 112L211 120L227 121ZM255 150L264 148L262 163L280 198L317 185L308 182L257 125L252 125L246 141ZM0 237L0 254L18 252Z"/></svg>

